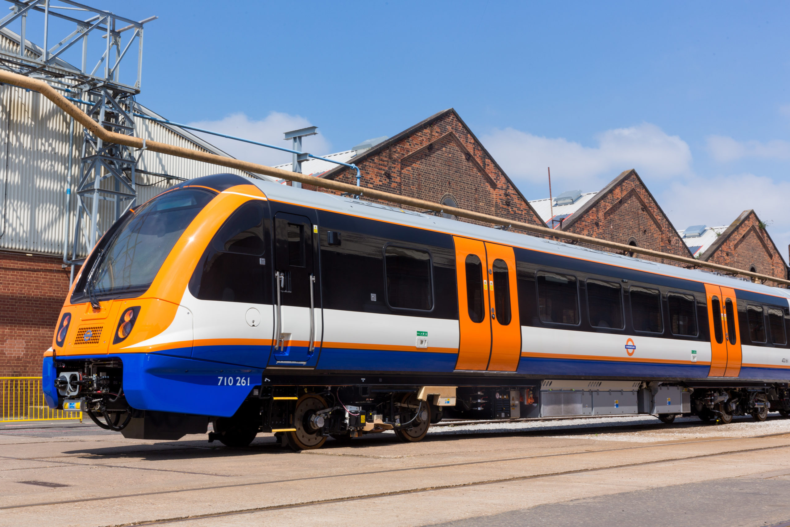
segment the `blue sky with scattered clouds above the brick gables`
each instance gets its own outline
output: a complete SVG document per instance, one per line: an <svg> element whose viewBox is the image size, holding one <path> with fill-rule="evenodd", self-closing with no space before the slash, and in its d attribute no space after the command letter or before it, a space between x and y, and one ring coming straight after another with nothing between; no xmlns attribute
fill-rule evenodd
<svg viewBox="0 0 790 527"><path fill-rule="evenodd" d="M160 17L138 100L169 119L278 144L312 124L328 153L455 107L529 199L547 165L555 193L636 168L675 227L756 209L787 258L787 2L95 5Z"/></svg>

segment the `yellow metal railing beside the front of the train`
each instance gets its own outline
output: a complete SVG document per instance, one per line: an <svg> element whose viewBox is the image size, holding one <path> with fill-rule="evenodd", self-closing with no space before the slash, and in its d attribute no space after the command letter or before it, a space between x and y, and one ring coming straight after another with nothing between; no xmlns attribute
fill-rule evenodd
<svg viewBox="0 0 790 527"><path fill-rule="evenodd" d="M0 423L59 419L82 420L82 412L47 406L40 377L0 377Z"/></svg>

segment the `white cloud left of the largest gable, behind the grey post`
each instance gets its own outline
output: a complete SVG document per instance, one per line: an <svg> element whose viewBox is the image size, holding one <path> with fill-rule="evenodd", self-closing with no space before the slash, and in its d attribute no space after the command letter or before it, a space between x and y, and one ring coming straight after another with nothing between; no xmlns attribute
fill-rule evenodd
<svg viewBox="0 0 790 527"><path fill-rule="evenodd" d="M190 122L190 126L197 126L205 130L220 132L220 134L243 137L252 141L268 143L269 145L291 148L291 141L284 141L283 133L289 130L299 130L310 126L310 121L299 116L272 111L260 121L255 121L243 113L228 115L219 121L198 121ZM194 132L205 141L209 141L217 148L228 152L240 160L251 161L266 165L282 164L291 161L292 154L281 152L275 149L268 149L264 146L250 145L242 141L217 137L216 135L201 134ZM318 155L329 152L329 141L320 133L303 139L302 149L305 152L316 153Z"/></svg>

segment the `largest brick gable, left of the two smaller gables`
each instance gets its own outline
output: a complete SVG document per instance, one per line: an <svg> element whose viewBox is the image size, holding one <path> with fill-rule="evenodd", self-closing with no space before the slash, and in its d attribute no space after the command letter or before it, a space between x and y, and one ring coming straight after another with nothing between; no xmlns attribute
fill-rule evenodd
<svg viewBox="0 0 790 527"><path fill-rule="evenodd" d="M352 162L362 171L363 186L427 201L452 197L461 209L543 225L454 110L412 126ZM355 184L356 175L340 167L323 177Z"/></svg>

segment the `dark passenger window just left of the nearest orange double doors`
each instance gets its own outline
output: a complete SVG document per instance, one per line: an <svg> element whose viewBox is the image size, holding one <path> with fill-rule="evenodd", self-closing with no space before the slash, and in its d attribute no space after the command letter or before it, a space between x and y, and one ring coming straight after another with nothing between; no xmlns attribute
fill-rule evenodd
<svg viewBox="0 0 790 527"><path fill-rule="evenodd" d="M389 245L384 250L389 307L431 311L431 254L427 250Z"/></svg>

